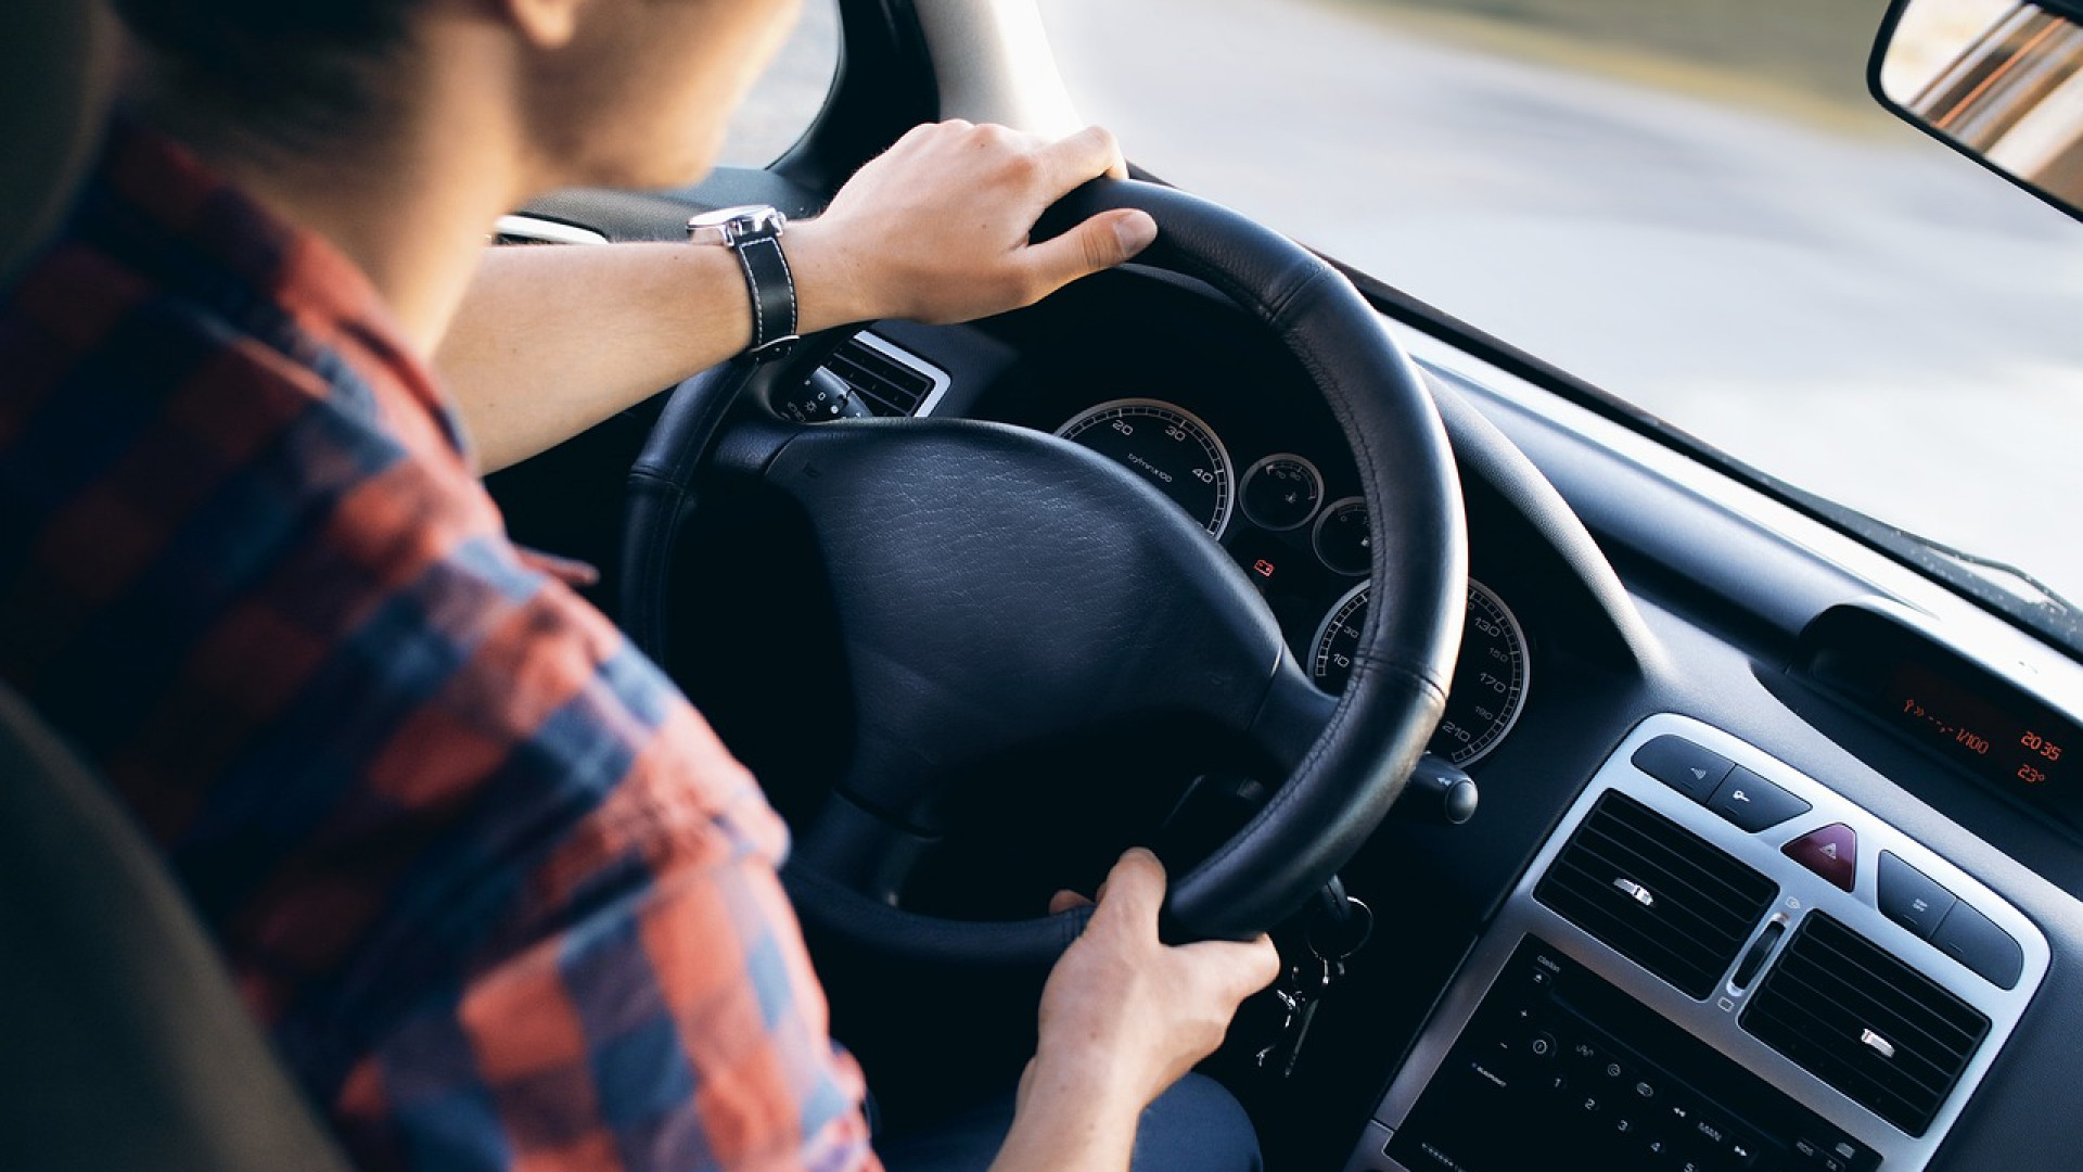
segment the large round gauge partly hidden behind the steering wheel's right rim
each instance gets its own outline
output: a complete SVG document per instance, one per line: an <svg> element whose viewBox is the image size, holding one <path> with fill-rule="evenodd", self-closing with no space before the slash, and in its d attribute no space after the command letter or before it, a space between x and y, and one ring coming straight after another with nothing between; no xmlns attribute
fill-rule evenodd
<svg viewBox="0 0 2083 1172"><path fill-rule="evenodd" d="M1308 674L1319 688L1337 694L1352 678L1352 653L1366 626L1369 582L1360 582L1331 607L1310 644ZM1446 715L1429 749L1466 767L1504 740L1527 705L1527 632L1512 609L1487 586L1469 580L1469 621L1460 636L1454 684Z"/></svg>

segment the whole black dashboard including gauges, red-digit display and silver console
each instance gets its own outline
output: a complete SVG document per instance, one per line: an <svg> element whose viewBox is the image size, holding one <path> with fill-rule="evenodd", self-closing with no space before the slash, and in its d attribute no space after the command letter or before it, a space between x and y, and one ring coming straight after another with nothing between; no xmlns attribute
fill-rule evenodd
<svg viewBox="0 0 2083 1172"><path fill-rule="evenodd" d="M1346 868L1381 928L1291 1080L1252 1043L1216 1059L1269 1164L1508 1172L1566 1145L1621 1172L2068 1166L2077 665L1454 359L1427 375L1462 473L1469 626L1433 751L1483 801L1469 826L1391 817ZM1341 640L1379 603L1354 573L1371 517L1308 382L1210 292L1106 273L969 327L877 323L825 369L852 402L827 382L767 407L992 419L1137 471L1337 690ZM529 540L544 507L506 494ZM752 642L817 694L777 638Z"/></svg>

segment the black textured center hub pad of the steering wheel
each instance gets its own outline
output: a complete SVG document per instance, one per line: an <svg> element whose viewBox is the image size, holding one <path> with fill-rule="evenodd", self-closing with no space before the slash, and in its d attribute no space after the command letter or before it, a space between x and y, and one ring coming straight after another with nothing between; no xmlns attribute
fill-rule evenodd
<svg viewBox="0 0 2083 1172"><path fill-rule="evenodd" d="M862 709L848 790L887 815L967 761L1133 713L1248 728L1283 663L1223 548L1085 448L996 423L831 423L789 434L764 478L817 532Z"/></svg>

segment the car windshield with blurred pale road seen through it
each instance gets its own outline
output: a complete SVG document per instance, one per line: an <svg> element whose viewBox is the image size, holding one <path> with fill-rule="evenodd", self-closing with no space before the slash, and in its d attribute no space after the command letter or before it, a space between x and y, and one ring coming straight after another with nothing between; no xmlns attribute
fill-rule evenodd
<svg viewBox="0 0 2083 1172"><path fill-rule="evenodd" d="M1883 2L1042 10L1156 175L2083 599L2083 227L1866 96Z"/></svg>

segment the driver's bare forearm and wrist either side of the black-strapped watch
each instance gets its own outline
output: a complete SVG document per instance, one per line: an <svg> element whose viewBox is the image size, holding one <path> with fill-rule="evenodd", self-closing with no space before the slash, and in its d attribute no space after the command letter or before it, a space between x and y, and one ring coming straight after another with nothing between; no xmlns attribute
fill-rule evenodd
<svg viewBox="0 0 2083 1172"><path fill-rule="evenodd" d="M800 329L867 315L846 259L812 223L785 242ZM487 248L435 357L481 471L550 448L750 344L729 248Z"/></svg>

